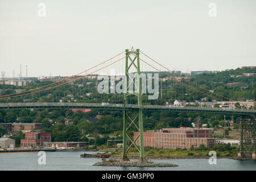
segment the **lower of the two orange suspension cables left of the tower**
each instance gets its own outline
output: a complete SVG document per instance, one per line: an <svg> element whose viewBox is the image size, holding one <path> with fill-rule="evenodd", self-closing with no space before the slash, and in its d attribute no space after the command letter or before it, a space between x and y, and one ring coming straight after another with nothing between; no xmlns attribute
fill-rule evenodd
<svg viewBox="0 0 256 182"><path fill-rule="evenodd" d="M76 81L76 80L80 80L80 79L82 79L82 78L84 78L84 77L86 77L86 76L88 76L88 75L92 75L92 73L95 73L95 72L97 72L97 71L100 71L101 69L104 69L104 68L106 68L106 67L109 67L110 65L112 65L112 64L114 64L114 63L117 63L118 61L122 60L122 59L125 58L125 57L126 57L126 56L122 57L121 59L118 59L118 60L114 61L113 63L110 63L110 64L106 65L105 67L102 67L102 68L100 68L100 69L97 69L96 71L91 72L91 73L89 73L89 74L87 74L87 75L81 76L81 77L79 77L79 78L74 78L74 79L72 79L72 80L69 80L69 81L67 81L67 82L64 82L63 84L55 85L55 86L52 86L52 87L49 87L49 88L46 88L46 89L43 89L43 90L38 90L38 91L35 91L35 92L31 92L31 93L21 94L21 95L18 95L18 96L10 96L10 97L0 98L0 100L6 99L6 98L19 97L19 96L26 96L26 95L28 95L28 94L39 93L39 92L43 92L43 91L46 91L46 90L49 90L49 89L56 88L56 87L61 86L61 85L68 84L69 82L73 82L73 81Z"/></svg>

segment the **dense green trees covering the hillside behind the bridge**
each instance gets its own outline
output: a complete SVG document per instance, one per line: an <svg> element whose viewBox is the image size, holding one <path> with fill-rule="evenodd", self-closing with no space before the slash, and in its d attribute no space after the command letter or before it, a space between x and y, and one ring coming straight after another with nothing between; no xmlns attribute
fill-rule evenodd
<svg viewBox="0 0 256 182"><path fill-rule="evenodd" d="M230 77L232 75L242 75L243 73L255 73L256 69L231 69L229 71L223 71L218 73L204 73L193 76L190 81L196 82L196 84L203 86L206 89L214 90L214 93L221 94L225 97L232 98L233 100L244 101L255 99L255 86L252 83L256 82L256 76L249 77ZM172 75L171 73L168 73ZM164 75L160 75L164 77ZM227 86L228 82L240 82L242 86ZM13 85L0 85L0 96L5 94L15 93L15 89L35 89L40 86L51 84L51 81L35 81L31 82L28 86L13 86ZM46 90L36 94L28 94L22 97L15 97L6 100L0 100L0 102L110 102L110 103L122 103L123 94L99 94L97 92L98 81L96 79L89 80L84 78L56 87L54 89ZM167 101L171 103L174 100L184 101L200 101L205 97L201 93L197 93L195 90L185 88L182 84L172 80L163 81L161 84L163 90L162 98L158 100L148 100L146 94L142 96L143 104L157 104L164 105ZM89 94L86 94L89 93ZM130 97L129 102L135 103L137 98ZM207 101L212 101L207 97ZM240 108L240 104L236 104ZM218 107L218 105L214 105ZM100 114L101 118L97 122L93 122L93 119ZM207 124L207 127L213 127L218 129L219 127L229 127L229 123L224 124L224 115L222 114L199 114L199 113L171 113L171 112L143 112L144 130L159 130L162 128L177 128L177 127L191 127L191 123L197 123L197 117L200 117L201 124ZM133 115L131 115L133 116ZM226 115L226 120L234 121L239 115ZM72 121L68 125L66 121ZM61 141L86 141L90 145L97 147L107 147L108 139L122 139L123 130L123 113L122 111L108 111L108 110L92 110L86 113L78 110L75 113L72 110L1 110L0 111L0 123L42 123L42 131L51 132L52 142ZM239 130L239 125L234 125L235 130ZM233 129L233 130L234 130ZM131 137L133 136L135 127L129 129ZM6 130L0 128L0 133L6 134ZM225 136L230 137L232 131L230 129L225 130ZM18 135L18 134L16 134ZM19 134L20 135L20 134ZM215 137L217 135L214 135ZM219 136L223 138L222 135ZM17 141L20 136L17 138ZM114 143L110 142L108 147L114 147ZM188 151L184 151L188 152ZM154 155L154 151L151 152ZM166 155L166 152L160 153L160 155ZM196 155L195 152L190 151L189 155Z"/></svg>

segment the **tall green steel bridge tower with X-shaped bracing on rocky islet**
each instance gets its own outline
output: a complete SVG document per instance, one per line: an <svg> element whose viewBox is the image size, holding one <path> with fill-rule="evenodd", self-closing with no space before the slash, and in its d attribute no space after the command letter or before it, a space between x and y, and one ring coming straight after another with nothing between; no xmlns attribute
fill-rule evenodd
<svg viewBox="0 0 256 182"><path fill-rule="evenodd" d="M127 111L123 110L123 156L121 161L129 160L128 151L132 146L137 148L139 152L139 163L146 162L144 156L144 139L143 139L143 118L142 118L142 83L139 77L141 71L139 67L139 49L134 51L133 48L129 51L126 49L126 59L125 59L125 93L124 93L124 104L125 107L129 107L128 97L136 96L138 99L139 109L137 111ZM131 73L134 73L133 74ZM132 89L130 89L132 88ZM138 125L139 124L139 125ZM137 138L131 137L129 129L134 127L135 130L139 131ZM130 134L130 135L129 135ZM139 139L139 147L135 144L136 140ZM129 146L128 142L129 141Z"/></svg>

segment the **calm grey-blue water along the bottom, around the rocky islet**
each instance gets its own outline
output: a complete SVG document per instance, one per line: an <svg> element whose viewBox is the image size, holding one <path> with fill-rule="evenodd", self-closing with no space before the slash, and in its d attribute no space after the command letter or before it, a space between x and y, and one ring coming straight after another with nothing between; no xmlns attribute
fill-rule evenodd
<svg viewBox="0 0 256 182"><path fill-rule="evenodd" d="M94 152L86 152L93 154ZM80 158L84 152L47 152L46 165L38 164L38 153L0 154L0 170L256 170L255 161L217 159L210 165L208 159L151 159L153 162L173 163L179 167L140 168L140 167L101 167L92 166L101 159Z"/></svg>

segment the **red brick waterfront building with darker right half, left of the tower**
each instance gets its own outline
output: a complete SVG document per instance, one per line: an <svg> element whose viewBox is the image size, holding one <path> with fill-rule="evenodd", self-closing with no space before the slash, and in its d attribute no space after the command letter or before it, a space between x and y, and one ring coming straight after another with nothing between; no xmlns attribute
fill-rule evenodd
<svg viewBox="0 0 256 182"><path fill-rule="evenodd" d="M43 147L44 142L51 142L51 133L26 132L25 139L20 140L20 147L23 147L23 148Z"/></svg>

